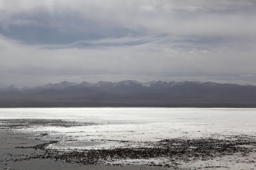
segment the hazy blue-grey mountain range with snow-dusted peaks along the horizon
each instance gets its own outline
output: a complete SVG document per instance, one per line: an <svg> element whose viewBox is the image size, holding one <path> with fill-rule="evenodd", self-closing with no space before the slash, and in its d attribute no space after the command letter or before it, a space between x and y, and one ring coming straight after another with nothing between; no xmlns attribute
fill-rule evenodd
<svg viewBox="0 0 256 170"><path fill-rule="evenodd" d="M0 87L0 107L256 107L256 86L135 80Z"/></svg>

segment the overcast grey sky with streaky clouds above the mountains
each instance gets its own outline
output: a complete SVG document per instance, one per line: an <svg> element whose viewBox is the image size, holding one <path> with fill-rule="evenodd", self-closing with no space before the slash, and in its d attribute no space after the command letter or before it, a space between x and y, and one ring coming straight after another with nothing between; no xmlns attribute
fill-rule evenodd
<svg viewBox="0 0 256 170"><path fill-rule="evenodd" d="M256 0L0 0L0 86L256 85Z"/></svg>

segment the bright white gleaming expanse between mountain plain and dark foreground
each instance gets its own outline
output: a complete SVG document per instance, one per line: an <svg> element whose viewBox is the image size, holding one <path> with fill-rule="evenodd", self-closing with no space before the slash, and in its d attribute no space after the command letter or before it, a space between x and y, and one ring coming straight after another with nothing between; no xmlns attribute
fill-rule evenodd
<svg viewBox="0 0 256 170"><path fill-rule="evenodd" d="M33 127L78 140L159 141L219 135L256 135L255 108L4 108L0 119L63 119L83 127Z"/></svg>

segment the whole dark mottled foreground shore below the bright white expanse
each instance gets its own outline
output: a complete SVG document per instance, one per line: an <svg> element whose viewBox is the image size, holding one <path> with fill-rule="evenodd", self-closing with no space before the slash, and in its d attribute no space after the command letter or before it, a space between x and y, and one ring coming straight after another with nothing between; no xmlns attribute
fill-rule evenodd
<svg viewBox="0 0 256 170"><path fill-rule="evenodd" d="M49 146L73 139L47 132L25 133L24 128L34 124L68 127L71 122L24 121L0 120L0 170L256 170L255 136L174 138L137 147L57 150Z"/></svg>

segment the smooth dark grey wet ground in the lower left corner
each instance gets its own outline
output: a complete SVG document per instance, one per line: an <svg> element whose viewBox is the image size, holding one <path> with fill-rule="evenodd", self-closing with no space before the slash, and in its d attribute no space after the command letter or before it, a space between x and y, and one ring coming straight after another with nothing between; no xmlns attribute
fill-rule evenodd
<svg viewBox="0 0 256 170"><path fill-rule="evenodd" d="M76 163L74 155L56 159L55 153L45 149L51 142L40 141L39 136L1 130L0 170L169 170L148 165L88 165Z"/></svg>

